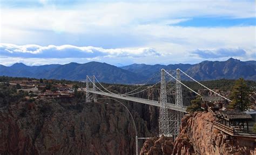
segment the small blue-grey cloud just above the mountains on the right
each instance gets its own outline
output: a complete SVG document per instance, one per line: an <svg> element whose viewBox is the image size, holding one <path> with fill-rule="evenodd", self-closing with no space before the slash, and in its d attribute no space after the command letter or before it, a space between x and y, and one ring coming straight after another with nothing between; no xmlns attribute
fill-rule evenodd
<svg viewBox="0 0 256 155"><path fill-rule="evenodd" d="M242 57L246 55L244 49L197 49L192 52L201 58L223 58L223 57Z"/></svg>

